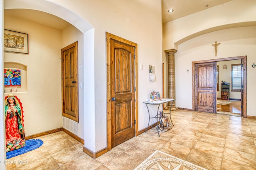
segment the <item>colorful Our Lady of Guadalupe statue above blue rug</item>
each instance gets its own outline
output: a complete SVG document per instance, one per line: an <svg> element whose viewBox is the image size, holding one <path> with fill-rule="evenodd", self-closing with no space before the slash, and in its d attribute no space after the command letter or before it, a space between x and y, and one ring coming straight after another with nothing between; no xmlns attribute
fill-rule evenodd
<svg viewBox="0 0 256 170"><path fill-rule="evenodd" d="M5 97L5 137L6 152L20 149L26 145L23 123L22 103L13 94Z"/></svg>

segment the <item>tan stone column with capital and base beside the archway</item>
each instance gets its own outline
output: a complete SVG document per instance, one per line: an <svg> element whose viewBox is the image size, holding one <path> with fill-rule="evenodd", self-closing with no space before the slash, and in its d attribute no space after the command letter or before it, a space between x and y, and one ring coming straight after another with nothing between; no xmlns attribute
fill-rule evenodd
<svg viewBox="0 0 256 170"><path fill-rule="evenodd" d="M168 54L168 98L176 99L175 93L175 60L174 53L177 52L176 49L170 49L165 51ZM174 100L171 110L177 110L178 107L175 106L176 102ZM171 104L168 103L166 109L170 110Z"/></svg>

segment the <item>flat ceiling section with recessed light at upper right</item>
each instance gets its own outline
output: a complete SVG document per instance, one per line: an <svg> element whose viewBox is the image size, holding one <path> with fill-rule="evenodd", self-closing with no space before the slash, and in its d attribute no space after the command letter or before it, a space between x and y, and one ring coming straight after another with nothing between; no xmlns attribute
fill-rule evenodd
<svg viewBox="0 0 256 170"><path fill-rule="evenodd" d="M231 0L162 0L162 23L224 4ZM168 10L173 9L172 13Z"/></svg>

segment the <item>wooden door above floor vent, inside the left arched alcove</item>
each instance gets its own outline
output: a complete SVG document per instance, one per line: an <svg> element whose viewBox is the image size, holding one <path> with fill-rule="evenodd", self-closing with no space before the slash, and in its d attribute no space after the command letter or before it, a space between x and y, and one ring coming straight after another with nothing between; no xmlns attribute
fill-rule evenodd
<svg viewBox="0 0 256 170"><path fill-rule="evenodd" d="M78 122L78 41L62 52L62 115Z"/></svg>

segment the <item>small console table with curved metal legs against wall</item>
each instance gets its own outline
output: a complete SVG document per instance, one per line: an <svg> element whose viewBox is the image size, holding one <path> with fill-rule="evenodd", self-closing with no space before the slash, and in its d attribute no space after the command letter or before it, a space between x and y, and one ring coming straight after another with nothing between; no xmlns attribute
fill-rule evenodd
<svg viewBox="0 0 256 170"><path fill-rule="evenodd" d="M146 104L147 106L147 109L148 109L148 105L158 105L158 109L157 109L157 112L156 112L156 116L155 117L150 117L150 113L149 113L149 109L148 109L148 126L149 126L149 121L150 119L156 119L156 129L157 129L157 132L158 132L158 136L160 137L159 135L159 131L158 131L158 120L160 120L160 115L158 113L159 111L159 106L162 105L162 108L164 109L164 103L167 103L167 102L174 102L175 99L167 99L167 98L164 98L164 99L160 99L160 100L156 100L156 101L145 101L143 102L144 104ZM172 118L171 118L171 108L172 108L172 104L171 104L171 107L170 107L170 112L169 113L164 113L164 114L169 114L170 115L170 121L172 123ZM159 118L159 119L158 119ZM172 123L172 125L174 126L174 124ZM147 132L148 130L148 127L145 131L145 133Z"/></svg>

